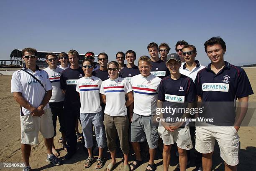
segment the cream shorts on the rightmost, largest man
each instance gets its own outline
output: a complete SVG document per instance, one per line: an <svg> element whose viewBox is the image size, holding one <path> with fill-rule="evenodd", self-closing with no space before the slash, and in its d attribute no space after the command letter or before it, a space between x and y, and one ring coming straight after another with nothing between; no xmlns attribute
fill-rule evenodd
<svg viewBox="0 0 256 171"><path fill-rule="evenodd" d="M195 149L198 152L213 152L215 139L220 147L220 157L226 164L238 165L239 136L234 126L196 126Z"/></svg>

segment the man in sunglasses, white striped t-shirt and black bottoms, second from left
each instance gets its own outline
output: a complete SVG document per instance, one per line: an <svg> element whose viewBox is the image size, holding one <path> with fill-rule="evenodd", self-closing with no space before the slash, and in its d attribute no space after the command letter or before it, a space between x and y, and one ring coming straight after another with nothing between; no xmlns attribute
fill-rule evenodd
<svg viewBox="0 0 256 171"><path fill-rule="evenodd" d="M64 121L64 116L63 116L63 102L64 102L64 93L61 91L60 88L60 75L61 72L64 69L61 69L57 67L57 57L55 54L49 53L46 55L46 62L49 64L49 67L44 69L49 77L50 77L50 82L52 86L52 96L51 99L49 100L49 105L51 108L51 113L52 113L52 121L54 124L54 136L56 136L56 122L57 122L57 116L59 118L59 124L60 124L60 129L59 131L61 132L62 136L62 144L67 151L66 148L66 141L65 141L65 121ZM54 146L54 141L52 141L52 151L54 155L59 156L59 152L56 151L55 146Z"/></svg>

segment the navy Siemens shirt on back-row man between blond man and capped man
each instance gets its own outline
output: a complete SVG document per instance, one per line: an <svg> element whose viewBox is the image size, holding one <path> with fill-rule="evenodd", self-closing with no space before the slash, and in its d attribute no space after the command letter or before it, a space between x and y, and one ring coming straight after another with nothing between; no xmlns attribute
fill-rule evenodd
<svg viewBox="0 0 256 171"><path fill-rule="evenodd" d="M159 59L157 62L152 62L151 74L163 79L166 76L170 75L169 69L166 67L166 64L163 60Z"/></svg>

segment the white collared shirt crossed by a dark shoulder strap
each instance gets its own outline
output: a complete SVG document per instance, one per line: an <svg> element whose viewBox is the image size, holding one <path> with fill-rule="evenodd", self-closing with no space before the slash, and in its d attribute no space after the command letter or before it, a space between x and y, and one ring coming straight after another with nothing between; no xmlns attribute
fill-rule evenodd
<svg viewBox="0 0 256 171"><path fill-rule="evenodd" d="M28 73L18 70L13 73L11 80L11 92L21 93L21 96L26 99L31 106L38 108L41 105L46 92L52 89L49 76L46 71L39 69L38 66L36 66L35 72L26 68L26 65L23 67L23 69L26 69L29 73L36 77L44 85L44 87L42 87L41 84ZM48 108L49 104L47 103L44 110ZM20 115L23 116L27 114L31 114L31 111L21 107Z"/></svg>

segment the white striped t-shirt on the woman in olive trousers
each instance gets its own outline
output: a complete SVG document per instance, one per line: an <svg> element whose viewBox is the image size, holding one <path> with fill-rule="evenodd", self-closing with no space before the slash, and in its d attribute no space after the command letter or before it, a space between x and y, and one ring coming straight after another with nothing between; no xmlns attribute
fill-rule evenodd
<svg viewBox="0 0 256 171"><path fill-rule="evenodd" d="M107 79L102 82L100 93L106 96L105 114L110 116L125 116L125 94L133 89L128 80L118 77L117 79Z"/></svg>

